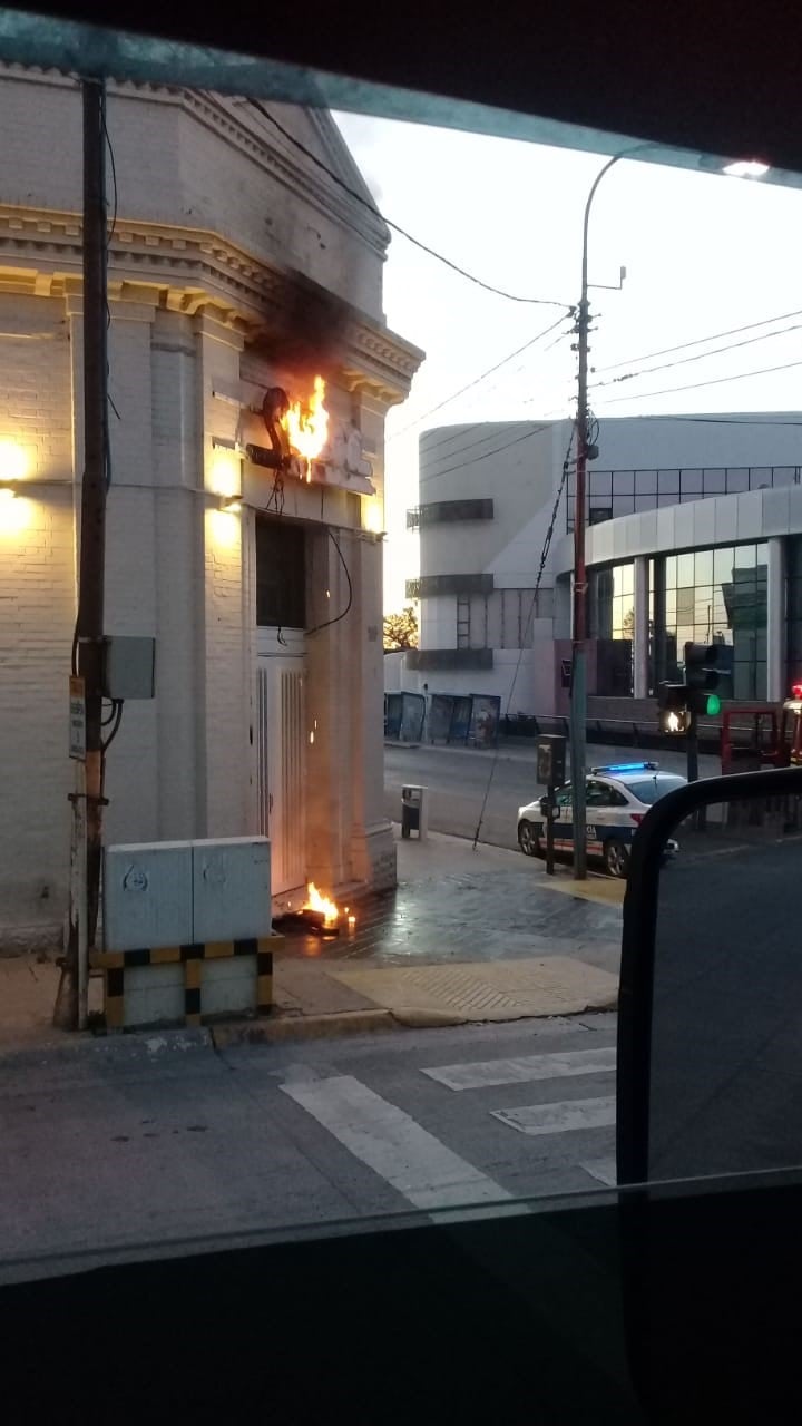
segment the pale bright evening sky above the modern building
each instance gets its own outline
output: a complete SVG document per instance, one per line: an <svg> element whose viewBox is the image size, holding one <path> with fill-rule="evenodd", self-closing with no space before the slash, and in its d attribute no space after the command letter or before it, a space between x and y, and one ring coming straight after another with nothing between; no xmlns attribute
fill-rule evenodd
<svg viewBox="0 0 802 1426"><path fill-rule="evenodd" d="M385 217L514 295L578 301L582 212L605 155L395 120L335 118ZM644 161L616 164L598 188L589 225L589 281L618 284L626 268L621 291L589 294L595 415L802 409L801 238L799 190ZM387 419L385 610L395 610L404 603L404 580L417 573L405 511L418 499L421 432L574 415L577 358L571 321L559 319L558 305L485 292L397 234L385 264L384 308L388 327L427 354L408 401ZM776 321L644 361L662 348L766 318ZM554 322L551 334L499 372L428 415ZM715 351L746 338L748 345ZM712 354L644 372L696 352ZM799 365L734 379L791 362ZM622 365L602 371L615 364ZM629 371L636 375L612 381ZM692 389L659 394L686 385Z"/></svg>

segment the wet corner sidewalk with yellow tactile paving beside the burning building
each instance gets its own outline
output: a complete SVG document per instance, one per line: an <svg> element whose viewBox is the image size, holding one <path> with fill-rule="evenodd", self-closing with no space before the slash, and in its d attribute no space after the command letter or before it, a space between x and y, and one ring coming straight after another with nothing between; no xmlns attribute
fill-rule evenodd
<svg viewBox="0 0 802 1426"><path fill-rule="evenodd" d="M398 890L351 910L354 934L287 937L274 1014L217 1025L217 1044L615 1008L621 883L430 833L398 846ZM0 958L0 1054L64 1045L50 1025L59 968ZM90 983L101 1008L101 983ZM196 1032L197 1034L197 1032ZM73 1042L78 1042L78 1037Z"/></svg>

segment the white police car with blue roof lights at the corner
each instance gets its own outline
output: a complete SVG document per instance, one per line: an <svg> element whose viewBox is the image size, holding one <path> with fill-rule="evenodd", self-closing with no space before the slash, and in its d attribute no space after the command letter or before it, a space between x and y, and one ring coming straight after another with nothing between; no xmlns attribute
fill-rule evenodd
<svg viewBox="0 0 802 1426"><path fill-rule="evenodd" d="M585 783L588 857L604 861L612 877L625 877L629 847L652 803L685 784L678 773L661 773L658 763L611 763L591 767ZM571 783L555 793L554 850L574 850ZM518 809L518 846L528 857L545 857L545 799ZM675 841L666 844L674 856Z"/></svg>

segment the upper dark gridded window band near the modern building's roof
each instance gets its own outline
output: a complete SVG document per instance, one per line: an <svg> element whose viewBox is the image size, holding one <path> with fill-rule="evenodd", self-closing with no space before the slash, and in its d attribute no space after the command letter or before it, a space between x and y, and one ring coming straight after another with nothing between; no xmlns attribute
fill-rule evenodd
<svg viewBox="0 0 802 1426"><path fill-rule="evenodd" d="M654 511L662 505L738 495L769 486L799 485L798 465L708 466L681 471L588 471L588 523ZM568 476L568 529L574 529L575 475Z"/></svg>

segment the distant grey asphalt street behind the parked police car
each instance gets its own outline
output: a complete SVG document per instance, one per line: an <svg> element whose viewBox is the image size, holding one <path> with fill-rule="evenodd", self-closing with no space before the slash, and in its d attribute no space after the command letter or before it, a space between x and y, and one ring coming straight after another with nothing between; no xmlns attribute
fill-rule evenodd
<svg viewBox="0 0 802 1426"><path fill-rule="evenodd" d="M632 747L588 746L588 767L631 763L639 757L659 763L665 771L685 773L684 753L646 752ZM699 759L699 774L721 771L716 757ZM430 790L430 827L454 837L477 833L482 803L479 841L497 847L517 847L518 807L542 796L545 787L535 777L535 749L492 752L465 747L387 744L384 749L384 810L392 821L401 820L401 789L420 783ZM489 793L488 793L489 784Z"/></svg>

